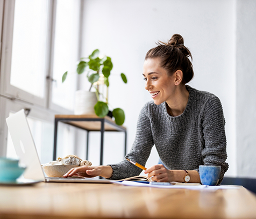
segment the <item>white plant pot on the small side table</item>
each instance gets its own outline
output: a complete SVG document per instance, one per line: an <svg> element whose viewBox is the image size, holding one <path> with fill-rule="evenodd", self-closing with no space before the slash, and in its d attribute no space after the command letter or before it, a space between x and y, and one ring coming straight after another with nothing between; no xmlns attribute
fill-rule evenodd
<svg viewBox="0 0 256 219"><path fill-rule="evenodd" d="M97 103L95 92L78 90L75 92L75 115L95 114L94 106Z"/></svg>

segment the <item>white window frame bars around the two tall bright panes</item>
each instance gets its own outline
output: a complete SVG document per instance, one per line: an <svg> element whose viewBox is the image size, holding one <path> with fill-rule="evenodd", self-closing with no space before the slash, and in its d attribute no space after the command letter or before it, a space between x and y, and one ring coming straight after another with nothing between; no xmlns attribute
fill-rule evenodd
<svg viewBox="0 0 256 219"><path fill-rule="evenodd" d="M52 103L56 1L50 0L48 5L46 89L45 97L40 98L10 84L15 0L0 0L0 145L2 145L0 147L0 156L6 156L8 127L5 118L9 116L9 112L15 113L22 108L29 108L31 109L29 117L51 123L54 123L55 114L73 114L69 109ZM79 39L77 39L79 40L78 45L80 45L78 48L79 54L77 54L79 57L81 55L82 45L83 0L77 1L80 1ZM79 88L79 80L77 80L76 87L77 89ZM17 93L19 94L17 95Z"/></svg>

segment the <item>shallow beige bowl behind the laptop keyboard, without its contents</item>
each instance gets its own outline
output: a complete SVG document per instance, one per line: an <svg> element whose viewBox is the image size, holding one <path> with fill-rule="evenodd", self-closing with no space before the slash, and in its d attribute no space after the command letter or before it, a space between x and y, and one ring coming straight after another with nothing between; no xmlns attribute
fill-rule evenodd
<svg viewBox="0 0 256 219"><path fill-rule="evenodd" d="M70 169L74 167L79 167L75 165L47 165L42 166L46 175L48 177L62 177L65 173L67 173Z"/></svg>

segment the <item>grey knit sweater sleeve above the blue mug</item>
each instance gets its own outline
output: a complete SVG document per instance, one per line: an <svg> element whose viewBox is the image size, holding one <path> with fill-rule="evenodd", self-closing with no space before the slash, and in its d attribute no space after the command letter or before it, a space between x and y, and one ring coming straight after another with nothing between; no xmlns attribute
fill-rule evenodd
<svg viewBox="0 0 256 219"><path fill-rule="evenodd" d="M203 163L204 165L221 166L218 182L220 184L229 164L225 162L227 158L225 119L221 101L216 96L211 97L205 104L202 120L205 145L202 150Z"/></svg>

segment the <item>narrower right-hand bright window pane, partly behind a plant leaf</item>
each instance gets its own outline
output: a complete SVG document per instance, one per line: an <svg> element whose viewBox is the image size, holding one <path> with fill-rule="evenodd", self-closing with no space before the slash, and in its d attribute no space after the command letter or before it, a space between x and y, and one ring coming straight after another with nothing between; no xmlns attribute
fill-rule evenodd
<svg viewBox="0 0 256 219"><path fill-rule="evenodd" d="M74 109L76 90L76 62L79 60L79 11L80 2L70 0L57 1L56 25L54 37L52 103ZM70 72L67 81L62 84L64 72ZM65 98L63 98L65 97Z"/></svg>

